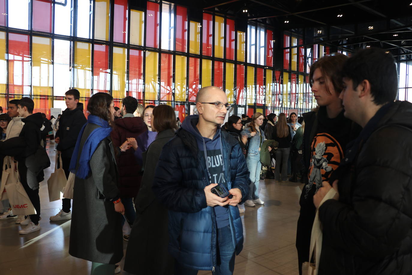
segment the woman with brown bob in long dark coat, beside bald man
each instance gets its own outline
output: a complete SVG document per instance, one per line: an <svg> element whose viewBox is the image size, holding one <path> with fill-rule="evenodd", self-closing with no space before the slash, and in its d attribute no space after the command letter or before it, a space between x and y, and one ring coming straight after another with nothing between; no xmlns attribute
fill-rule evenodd
<svg viewBox="0 0 412 275"><path fill-rule="evenodd" d="M152 191L155 168L164 144L175 136L177 129L173 108L159 105L153 109L152 127L158 133L143 152L144 174L135 200L136 220L127 245L124 270L139 275L173 274L173 257L169 244L168 212Z"/></svg>

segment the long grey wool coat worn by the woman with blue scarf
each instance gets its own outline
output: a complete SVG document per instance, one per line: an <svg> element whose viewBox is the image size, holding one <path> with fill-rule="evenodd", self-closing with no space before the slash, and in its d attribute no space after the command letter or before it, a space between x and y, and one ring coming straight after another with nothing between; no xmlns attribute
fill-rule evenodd
<svg viewBox="0 0 412 275"><path fill-rule="evenodd" d="M97 127L100 126L89 123L84 128L79 157L84 142ZM123 257L123 217L115 212L110 201L120 194L110 136L99 143L91 157L90 169L86 179L75 178L69 254L96 263L115 264Z"/></svg>

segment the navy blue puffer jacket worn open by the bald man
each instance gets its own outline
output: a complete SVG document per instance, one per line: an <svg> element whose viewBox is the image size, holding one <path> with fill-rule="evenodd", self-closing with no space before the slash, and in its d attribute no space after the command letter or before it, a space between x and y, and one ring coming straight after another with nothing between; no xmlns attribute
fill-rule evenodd
<svg viewBox="0 0 412 275"><path fill-rule="evenodd" d="M239 142L222 131L222 153L228 189L239 188L241 203L249 192L249 171ZM166 143L157 163L153 191L169 209L169 252L186 268L212 270L217 265L216 220L206 205L209 185L204 154L196 138L180 128ZM243 226L237 207L229 206L230 228L236 254L243 248Z"/></svg>

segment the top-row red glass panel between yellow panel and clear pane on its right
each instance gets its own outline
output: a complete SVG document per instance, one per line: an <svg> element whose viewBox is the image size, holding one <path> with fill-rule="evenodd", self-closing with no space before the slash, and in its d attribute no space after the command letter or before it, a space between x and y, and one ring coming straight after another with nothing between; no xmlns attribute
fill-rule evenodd
<svg viewBox="0 0 412 275"><path fill-rule="evenodd" d="M159 47L159 4L147 1L146 47Z"/></svg>

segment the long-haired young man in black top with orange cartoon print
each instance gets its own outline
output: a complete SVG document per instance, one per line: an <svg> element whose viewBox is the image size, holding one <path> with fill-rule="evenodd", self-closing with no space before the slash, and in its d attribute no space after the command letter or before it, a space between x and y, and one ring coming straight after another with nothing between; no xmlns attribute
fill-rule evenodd
<svg viewBox="0 0 412 275"><path fill-rule="evenodd" d="M312 64L310 85L318 103L317 110L304 113L303 160L305 185L300 196L300 216L297 221L296 249L299 273L302 263L309 261L309 245L315 219L313 195L329 179L344 157L346 144L359 133L360 127L344 117L342 82L339 70L347 56L335 54L324 56Z"/></svg>

